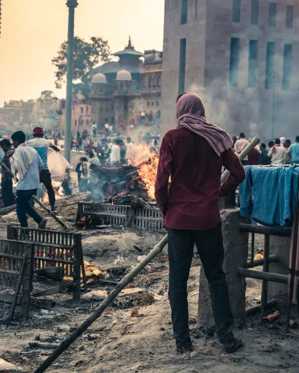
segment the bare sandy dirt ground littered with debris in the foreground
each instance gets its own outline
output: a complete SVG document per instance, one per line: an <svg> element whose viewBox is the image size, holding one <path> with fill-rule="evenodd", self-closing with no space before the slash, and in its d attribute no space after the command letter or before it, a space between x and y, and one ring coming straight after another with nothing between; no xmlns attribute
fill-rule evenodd
<svg viewBox="0 0 299 373"><path fill-rule="evenodd" d="M76 201L81 196L59 201L59 214L68 225L74 222ZM64 204L64 207L62 206ZM70 218L70 215L73 217ZM33 224L33 223L30 223ZM58 228L49 222L50 228ZM135 266L138 255L147 253L161 234L127 229L84 230L84 257L103 268ZM6 223L0 220L0 237L6 237ZM257 244L257 250L262 243ZM297 373L299 330L286 334L281 323L260 325L260 315L236 323L236 337L244 347L235 354L224 352L211 331L196 325L200 261L196 258L188 282L190 330L195 352L176 353L169 301L167 251L147 266L133 281L140 293L118 297L117 301L81 336L47 372L142 372L142 373ZM121 278L121 276L119 276ZM113 278L116 279L116 278ZM260 281L248 279L247 304L257 304ZM94 289L113 289L94 285ZM24 372L33 372L53 350L29 347L29 342L60 343L78 327L99 301L74 304L68 291L35 299L29 319L19 317L17 308L10 327L4 325L10 306L0 304L0 357ZM273 308L269 313L275 311ZM284 310L280 310L282 319ZM297 319L295 313L292 316ZM95 336L92 336L96 334ZM95 338L95 339L93 339ZM11 370L12 372L13 370Z"/></svg>

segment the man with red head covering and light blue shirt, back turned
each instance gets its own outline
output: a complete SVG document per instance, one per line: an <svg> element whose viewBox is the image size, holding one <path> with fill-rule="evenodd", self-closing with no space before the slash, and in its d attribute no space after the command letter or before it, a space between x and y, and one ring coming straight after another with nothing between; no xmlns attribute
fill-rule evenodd
<svg viewBox="0 0 299 373"><path fill-rule="evenodd" d="M55 193L52 186L51 174L48 169L48 148L52 148L55 151L59 151L59 149L55 145L53 145L51 141L44 138L44 130L40 127L34 128L33 137L34 138L27 141L27 145L31 146L31 148L34 148L40 156L42 162L44 162L44 167L39 174L39 181L42 182L47 189L51 211L54 212L56 211Z"/></svg>

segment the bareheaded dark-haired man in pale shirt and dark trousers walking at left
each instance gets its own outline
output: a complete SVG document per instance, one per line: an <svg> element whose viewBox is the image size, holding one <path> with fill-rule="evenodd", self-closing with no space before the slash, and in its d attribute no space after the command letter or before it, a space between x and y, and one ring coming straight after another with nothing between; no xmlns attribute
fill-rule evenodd
<svg viewBox="0 0 299 373"><path fill-rule="evenodd" d="M38 224L39 229L45 229L47 220L42 219L35 209L29 204L30 198L36 194L39 188L39 173L44 167L37 151L28 146L26 135L23 131L17 131L11 136L15 148L12 168L18 172L19 181L16 186L16 214L20 225L27 228L27 214Z"/></svg>

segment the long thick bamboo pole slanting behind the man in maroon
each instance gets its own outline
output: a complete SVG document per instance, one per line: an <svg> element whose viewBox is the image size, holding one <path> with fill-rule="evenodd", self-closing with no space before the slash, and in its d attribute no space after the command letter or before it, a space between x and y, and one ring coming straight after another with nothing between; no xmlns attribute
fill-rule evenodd
<svg viewBox="0 0 299 373"><path fill-rule="evenodd" d="M249 151L259 144L260 139L254 137L251 143L243 150L239 155L239 159L243 160ZM227 170L226 170L227 171ZM224 172L221 176L221 182L223 182L229 172ZM129 284L132 279L148 264L150 263L166 246L168 241L167 235L162 238L162 240L153 248L153 250L146 255L146 257L125 275L114 290L103 300L101 305L86 319L73 334L71 334L67 339L63 340L60 345L55 349L55 351L50 355L35 371L34 373L43 373L63 352L66 351L68 347L84 332L86 331L92 323L94 323L103 313L103 311L110 305L112 300L121 292L121 290Z"/></svg>

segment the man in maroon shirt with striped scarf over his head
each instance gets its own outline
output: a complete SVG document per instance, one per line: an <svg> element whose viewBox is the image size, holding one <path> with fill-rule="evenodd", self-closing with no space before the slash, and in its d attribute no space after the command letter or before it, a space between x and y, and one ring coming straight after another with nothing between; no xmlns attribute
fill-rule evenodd
<svg viewBox="0 0 299 373"><path fill-rule="evenodd" d="M155 196L168 230L168 295L177 351L193 351L187 280L195 243L209 283L219 340L227 352L234 352L242 341L232 334L218 199L237 188L245 171L230 136L206 122L204 105L196 94L179 96L176 109L178 127L164 135L160 148ZM223 184L222 166L230 171Z"/></svg>

